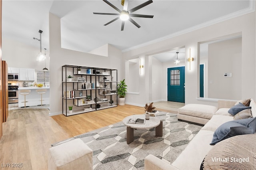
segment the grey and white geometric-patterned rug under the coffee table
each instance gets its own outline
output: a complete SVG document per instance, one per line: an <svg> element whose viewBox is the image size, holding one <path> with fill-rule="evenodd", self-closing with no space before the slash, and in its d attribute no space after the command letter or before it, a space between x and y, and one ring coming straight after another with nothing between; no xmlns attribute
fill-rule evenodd
<svg viewBox="0 0 256 170"><path fill-rule="evenodd" d="M126 126L121 121L74 138L82 139L93 150L94 170L144 170L148 154L172 164L202 127L178 121L173 113L159 112L156 117L163 121L162 137L155 136L155 128L134 129L134 141L127 144Z"/></svg>

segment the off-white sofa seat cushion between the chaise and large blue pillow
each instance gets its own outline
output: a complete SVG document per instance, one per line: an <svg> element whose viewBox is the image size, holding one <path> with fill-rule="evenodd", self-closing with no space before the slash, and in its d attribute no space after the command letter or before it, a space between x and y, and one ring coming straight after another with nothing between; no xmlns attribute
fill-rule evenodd
<svg viewBox="0 0 256 170"><path fill-rule="evenodd" d="M213 115L212 119L208 121L204 127L202 127L202 130L210 130L214 132L220 125L223 123L226 123L228 121L233 121L233 117L231 116L222 116L222 115Z"/></svg>

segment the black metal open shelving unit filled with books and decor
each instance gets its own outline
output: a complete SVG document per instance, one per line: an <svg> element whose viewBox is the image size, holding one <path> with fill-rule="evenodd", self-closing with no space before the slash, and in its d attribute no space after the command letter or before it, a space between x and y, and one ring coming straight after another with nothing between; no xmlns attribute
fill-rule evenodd
<svg viewBox="0 0 256 170"><path fill-rule="evenodd" d="M78 73L78 68L81 69L80 73ZM68 75L73 76L72 81L68 81ZM101 85L100 87L96 87L97 82ZM70 94L71 91L73 91L74 96ZM87 101L87 95L90 95L90 101ZM72 113L69 113L68 106L71 105L73 109ZM62 66L63 115L77 115L117 107L117 105L117 69L81 65Z"/></svg>

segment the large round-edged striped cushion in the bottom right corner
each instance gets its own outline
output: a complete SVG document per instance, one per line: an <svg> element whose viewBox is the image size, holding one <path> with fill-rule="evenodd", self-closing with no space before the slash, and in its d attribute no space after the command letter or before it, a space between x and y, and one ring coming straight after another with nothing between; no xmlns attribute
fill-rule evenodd
<svg viewBox="0 0 256 170"><path fill-rule="evenodd" d="M200 170L253 170L255 155L256 134L233 136L214 145Z"/></svg>

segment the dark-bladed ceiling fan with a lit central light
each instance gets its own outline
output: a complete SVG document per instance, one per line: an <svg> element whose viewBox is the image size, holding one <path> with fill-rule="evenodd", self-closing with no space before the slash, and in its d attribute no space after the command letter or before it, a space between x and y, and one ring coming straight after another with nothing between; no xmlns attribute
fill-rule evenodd
<svg viewBox="0 0 256 170"><path fill-rule="evenodd" d="M111 20L107 24L104 24L104 26L106 26L106 25L108 25L108 24L110 24L110 23L112 23L112 22L114 22L114 21L116 21L120 18L122 20L121 31L123 31L124 30L124 22L126 20L129 20L136 27L140 28L140 25L137 24L131 17L153 18L153 15L132 14L132 12L135 12L136 10L139 10L140 8L143 8L144 6L147 6L148 4L151 4L153 2L152 0L148 0L147 2L144 2L143 4L140 4L140 5L134 7L130 10L127 10L128 9L128 0L122 0L121 4L122 4L122 6L124 6L123 10L119 10L118 8L116 8L116 6L114 6L113 4L108 2L107 0L103 0L103 1L106 2L109 6L111 6L112 8L114 8L115 10L117 10L119 12L119 14L94 12L93 14L118 15L118 17L116 17L114 20Z"/></svg>

